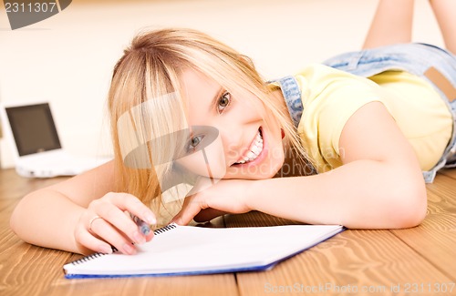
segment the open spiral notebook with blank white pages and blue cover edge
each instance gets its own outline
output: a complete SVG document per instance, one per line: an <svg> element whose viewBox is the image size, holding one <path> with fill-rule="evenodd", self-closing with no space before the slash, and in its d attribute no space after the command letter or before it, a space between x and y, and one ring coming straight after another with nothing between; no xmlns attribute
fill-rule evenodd
<svg viewBox="0 0 456 296"><path fill-rule="evenodd" d="M170 224L135 255L95 253L64 265L67 279L269 270L344 230L339 225L201 228Z"/></svg>

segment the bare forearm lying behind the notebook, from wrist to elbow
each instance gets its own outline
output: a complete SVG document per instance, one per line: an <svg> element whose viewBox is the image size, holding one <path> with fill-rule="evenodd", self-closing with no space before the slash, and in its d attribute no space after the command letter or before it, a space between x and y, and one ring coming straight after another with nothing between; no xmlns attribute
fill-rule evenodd
<svg viewBox="0 0 456 296"><path fill-rule="evenodd" d="M316 176L255 181L249 192L251 209L348 228L409 227L418 224L426 210L420 176L373 160L354 161Z"/></svg>

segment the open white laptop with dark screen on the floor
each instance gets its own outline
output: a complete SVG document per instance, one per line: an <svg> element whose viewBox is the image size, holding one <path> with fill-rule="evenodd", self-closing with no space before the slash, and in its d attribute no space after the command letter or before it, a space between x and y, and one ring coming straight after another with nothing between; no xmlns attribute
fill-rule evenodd
<svg viewBox="0 0 456 296"><path fill-rule="evenodd" d="M47 102L0 105L5 139L13 150L16 172L27 178L73 176L108 158L77 157L65 151Z"/></svg>

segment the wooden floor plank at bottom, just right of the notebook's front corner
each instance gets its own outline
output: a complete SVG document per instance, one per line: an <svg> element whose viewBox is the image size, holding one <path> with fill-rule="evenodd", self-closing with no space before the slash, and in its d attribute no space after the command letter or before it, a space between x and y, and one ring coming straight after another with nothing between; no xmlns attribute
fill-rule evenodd
<svg viewBox="0 0 456 296"><path fill-rule="evenodd" d="M237 281L241 295L388 295L395 289L403 295L409 283L451 279L388 230L346 230L272 270L238 273Z"/></svg>

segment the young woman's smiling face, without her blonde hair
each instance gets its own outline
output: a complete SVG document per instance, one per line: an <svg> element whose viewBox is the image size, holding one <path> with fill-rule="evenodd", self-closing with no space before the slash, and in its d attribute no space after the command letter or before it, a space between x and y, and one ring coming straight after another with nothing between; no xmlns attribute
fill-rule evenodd
<svg viewBox="0 0 456 296"><path fill-rule="evenodd" d="M185 69L181 73L181 93L187 105L191 129L189 147L205 137L192 127L212 127L219 131L222 147L207 149L209 166L225 171L223 179L267 179L284 163L282 131L275 117L259 98L244 89L224 89L202 73ZM209 144L210 145L210 144ZM187 164L192 171L207 163ZM224 166L224 168L221 168Z"/></svg>

